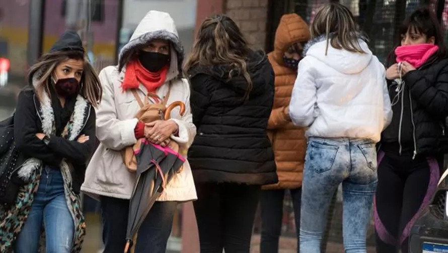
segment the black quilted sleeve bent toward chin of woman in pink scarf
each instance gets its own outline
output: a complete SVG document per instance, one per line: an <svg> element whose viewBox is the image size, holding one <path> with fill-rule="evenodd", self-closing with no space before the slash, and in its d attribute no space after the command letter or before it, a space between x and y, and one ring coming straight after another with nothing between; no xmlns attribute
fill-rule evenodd
<svg viewBox="0 0 448 253"><path fill-rule="evenodd" d="M435 74L435 82L416 70L407 73L403 79L414 100L435 118L444 119L448 116L448 65Z"/></svg>

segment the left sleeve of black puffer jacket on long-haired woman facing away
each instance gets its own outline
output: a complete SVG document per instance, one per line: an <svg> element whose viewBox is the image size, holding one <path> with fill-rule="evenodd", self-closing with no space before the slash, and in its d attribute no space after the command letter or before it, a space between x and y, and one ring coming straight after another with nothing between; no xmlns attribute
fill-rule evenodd
<svg viewBox="0 0 448 253"><path fill-rule="evenodd" d="M199 129L202 122L202 117L204 116L205 110L207 109L209 103L209 92L207 86L210 81L211 78L205 74L198 74L190 79L190 106L191 113L193 115L193 124L196 126L196 129Z"/></svg>

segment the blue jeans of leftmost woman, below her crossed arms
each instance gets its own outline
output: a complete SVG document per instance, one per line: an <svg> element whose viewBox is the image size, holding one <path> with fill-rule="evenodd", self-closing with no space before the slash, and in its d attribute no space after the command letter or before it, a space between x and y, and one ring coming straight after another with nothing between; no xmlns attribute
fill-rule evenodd
<svg viewBox="0 0 448 253"><path fill-rule="evenodd" d="M42 222L46 252L69 253L74 224L65 201L64 181L59 169L44 167L42 170L30 214L16 241L16 253L37 253Z"/></svg>

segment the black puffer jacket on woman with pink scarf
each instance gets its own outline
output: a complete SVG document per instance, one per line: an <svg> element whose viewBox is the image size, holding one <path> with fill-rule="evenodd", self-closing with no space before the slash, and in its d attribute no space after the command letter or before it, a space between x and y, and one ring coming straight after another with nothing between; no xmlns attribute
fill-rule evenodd
<svg viewBox="0 0 448 253"><path fill-rule="evenodd" d="M383 132L382 149L399 153L401 146L402 153L437 154L445 149L442 141L444 135L448 134L445 133L445 118L448 116L448 59L429 60L418 70L404 75L403 81L405 86L399 99L397 84L390 82L389 95L397 103L392 107L392 123Z"/></svg>

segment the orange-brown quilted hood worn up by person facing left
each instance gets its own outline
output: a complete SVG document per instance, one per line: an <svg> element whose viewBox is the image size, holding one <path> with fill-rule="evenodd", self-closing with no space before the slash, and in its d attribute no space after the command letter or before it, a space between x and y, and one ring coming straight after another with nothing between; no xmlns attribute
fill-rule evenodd
<svg viewBox="0 0 448 253"><path fill-rule="evenodd" d="M310 39L310 31L307 23L297 14L283 15L275 32L274 60L282 66L288 66L285 61L285 53L294 48L294 44L304 43ZM300 53L300 52L295 52ZM286 57L287 58L287 57Z"/></svg>

